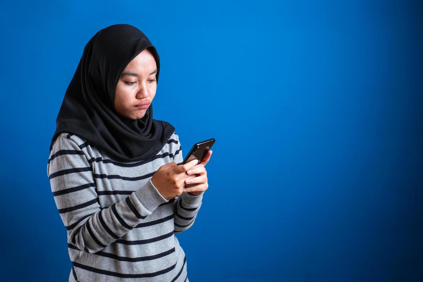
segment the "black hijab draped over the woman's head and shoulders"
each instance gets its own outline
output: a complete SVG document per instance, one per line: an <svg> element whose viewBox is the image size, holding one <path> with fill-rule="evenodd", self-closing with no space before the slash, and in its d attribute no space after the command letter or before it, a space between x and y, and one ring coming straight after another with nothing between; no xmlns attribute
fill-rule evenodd
<svg viewBox="0 0 423 282"><path fill-rule="evenodd" d="M75 134L126 161L151 158L163 148L175 128L153 119L152 102L143 118L137 120L121 116L114 107L115 88L123 70L146 48L156 60L158 82L159 55L136 27L111 25L88 41L63 98L50 151L62 132Z"/></svg>

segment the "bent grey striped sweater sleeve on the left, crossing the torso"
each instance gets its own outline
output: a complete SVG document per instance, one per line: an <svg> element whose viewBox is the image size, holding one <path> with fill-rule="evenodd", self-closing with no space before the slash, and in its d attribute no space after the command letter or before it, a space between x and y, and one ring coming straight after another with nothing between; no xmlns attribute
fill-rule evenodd
<svg viewBox="0 0 423 282"><path fill-rule="evenodd" d="M69 135L68 135L69 136ZM168 202L151 183L109 208L100 208L91 162L70 137L60 135L47 164L52 193L68 230L68 243L95 253L124 236Z"/></svg>

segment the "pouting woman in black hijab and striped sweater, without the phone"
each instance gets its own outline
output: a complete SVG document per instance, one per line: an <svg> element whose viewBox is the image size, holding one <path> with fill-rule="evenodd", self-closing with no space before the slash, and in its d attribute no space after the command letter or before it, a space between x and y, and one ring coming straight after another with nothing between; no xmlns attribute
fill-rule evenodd
<svg viewBox="0 0 423 282"><path fill-rule="evenodd" d="M47 174L69 281L189 281L174 233L196 219L211 151L181 164L175 128L153 119L159 71L140 30L112 25L88 41L66 90Z"/></svg>

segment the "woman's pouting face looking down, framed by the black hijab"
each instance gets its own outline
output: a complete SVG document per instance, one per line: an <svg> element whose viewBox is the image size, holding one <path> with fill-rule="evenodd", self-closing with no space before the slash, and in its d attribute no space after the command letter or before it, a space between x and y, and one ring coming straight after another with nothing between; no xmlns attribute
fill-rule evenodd
<svg viewBox="0 0 423 282"><path fill-rule="evenodd" d="M126 66L116 85L116 112L133 120L142 118L156 95L156 73L156 60L148 49L144 49ZM148 104L137 107L142 102Z"/></svg>

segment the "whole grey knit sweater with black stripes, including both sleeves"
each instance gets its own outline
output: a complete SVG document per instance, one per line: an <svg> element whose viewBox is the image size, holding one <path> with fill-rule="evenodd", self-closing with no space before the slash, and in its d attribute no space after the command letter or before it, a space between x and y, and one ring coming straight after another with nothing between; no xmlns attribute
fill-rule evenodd
<svg viewBox="0 0 423 282"><path fill-rule="evenodd" d="M189 281L175 233L194 224L203 193L166 200L151 182L163 164L182 160L175 132L139 162L115 159L74 134L58 136L47 175L67 230L69 281Z"/></svg>

